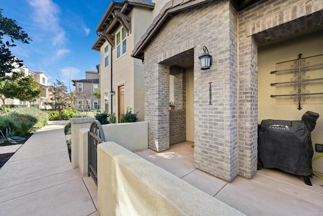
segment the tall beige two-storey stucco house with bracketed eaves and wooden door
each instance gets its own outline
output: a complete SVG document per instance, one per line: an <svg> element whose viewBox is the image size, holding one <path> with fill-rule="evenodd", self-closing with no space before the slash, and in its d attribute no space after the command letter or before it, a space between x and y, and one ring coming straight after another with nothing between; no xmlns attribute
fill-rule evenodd
<svg viewBox="0 0 323 216"><path fill-rule="evenodd" d="M146 1L112 1L96 27L100 36L91 49L101 53L102 109L115 112L117 122L127 107L144 120L144 65L131 58L131 51L150 25L153 8L154 3Z"/></svg>

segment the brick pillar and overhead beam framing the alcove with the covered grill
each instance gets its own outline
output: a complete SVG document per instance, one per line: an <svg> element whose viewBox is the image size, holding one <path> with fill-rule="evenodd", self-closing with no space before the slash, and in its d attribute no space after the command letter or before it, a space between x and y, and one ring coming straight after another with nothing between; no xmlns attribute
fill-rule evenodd
<svg viewBox="0 0 323 216"><path fill-rule="evenodd" d="M239 175L257 163L257 44L322 25L321 0L261 1L238 14Z"/></svg>

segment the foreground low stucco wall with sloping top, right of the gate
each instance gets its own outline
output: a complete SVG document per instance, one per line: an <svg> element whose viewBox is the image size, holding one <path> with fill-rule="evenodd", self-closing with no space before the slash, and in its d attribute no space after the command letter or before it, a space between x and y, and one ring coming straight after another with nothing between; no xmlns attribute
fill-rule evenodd
<svg viewBox="0 0 323 216"><path fill-rule="evenodd" d="M99 215L243 215L114 142L98 145Z"/></svg>

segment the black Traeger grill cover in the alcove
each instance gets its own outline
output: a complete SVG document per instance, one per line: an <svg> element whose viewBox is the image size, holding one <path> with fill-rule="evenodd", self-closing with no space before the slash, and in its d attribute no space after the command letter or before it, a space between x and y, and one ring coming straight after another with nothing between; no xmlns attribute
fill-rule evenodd
<svg viewBox="0 0 323 216"><path fill-rule="evenodd" d="M307 111L300 121L262 120L258 128L258 162L291 174L312 174L313 131L318 113Z"/></svg>

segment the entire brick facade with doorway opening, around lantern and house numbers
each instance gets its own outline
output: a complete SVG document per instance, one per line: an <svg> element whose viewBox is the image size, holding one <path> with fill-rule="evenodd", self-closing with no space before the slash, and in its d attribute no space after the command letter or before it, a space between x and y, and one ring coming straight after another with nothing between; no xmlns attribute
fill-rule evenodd
<svg viewBox="0 0 323 216"><path fill-rule="evenodd" d="M165 22L145 48L149 148L169 148L170 66L192 60L195 166L228 181L237 174L251 178L257 168L257 44L322 25L322 5L271 0L237 13L229 1L212 1ZM209 70L200 70L203 46L213 57Z"/></svg>

